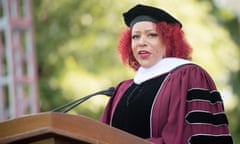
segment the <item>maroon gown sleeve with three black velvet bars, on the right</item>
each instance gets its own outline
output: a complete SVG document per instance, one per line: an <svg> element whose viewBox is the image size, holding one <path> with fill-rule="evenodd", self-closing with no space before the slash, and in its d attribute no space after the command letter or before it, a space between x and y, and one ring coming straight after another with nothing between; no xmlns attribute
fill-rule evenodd
<svg viewBox="0 0 240 144"><path fill-rule="evenodd" d="M152 112L156 144L232 144L223 101L212 78L196 65L171 72Z"/></svg>

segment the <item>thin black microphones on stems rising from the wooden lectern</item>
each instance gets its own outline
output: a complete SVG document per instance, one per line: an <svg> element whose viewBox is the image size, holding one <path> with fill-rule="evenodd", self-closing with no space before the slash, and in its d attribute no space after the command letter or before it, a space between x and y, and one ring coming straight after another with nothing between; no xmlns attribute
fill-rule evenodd
<svg viewBox="0 0 240 144"><path fill-rule="evenodd" d="M72 110L73 108L75 108L76 106L78 106L79 104L83 103L84 101L88 100L89 98L96 96L96 95L106 95L106 96L112 96L113 92L114 92L115 88L114 87L110 87L107 90L102 90L87 96L84 96L80 99L74 100L72 102L66 103L60 107L57 107L53 110L51 110L51 112L60 112L62 111L63 113L67 113L68 111Z"/></svg>

